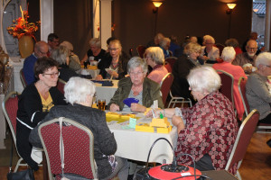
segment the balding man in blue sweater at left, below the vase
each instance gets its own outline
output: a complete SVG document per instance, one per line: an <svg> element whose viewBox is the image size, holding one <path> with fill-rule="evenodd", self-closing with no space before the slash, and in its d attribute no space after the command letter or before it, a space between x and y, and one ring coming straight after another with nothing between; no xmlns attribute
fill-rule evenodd
<svg viewBox="0 0 271 180"><path fill-rule="evenodd" d="M37 61L37 58L47 57L48 49L48 44L45 41L38 41L35 44L33 54L24 59L23 74L27 85L30 85L35 81L33 66Z"/></svg>

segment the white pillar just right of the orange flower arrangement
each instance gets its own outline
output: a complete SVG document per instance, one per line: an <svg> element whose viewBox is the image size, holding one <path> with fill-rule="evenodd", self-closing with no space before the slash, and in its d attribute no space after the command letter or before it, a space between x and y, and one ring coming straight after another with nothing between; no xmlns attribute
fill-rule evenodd
<svg viewBox="0 0 271 180"><path fill-rule="evenodd" d="M53 32L53 0L41 0L41 40Z"/></svg>

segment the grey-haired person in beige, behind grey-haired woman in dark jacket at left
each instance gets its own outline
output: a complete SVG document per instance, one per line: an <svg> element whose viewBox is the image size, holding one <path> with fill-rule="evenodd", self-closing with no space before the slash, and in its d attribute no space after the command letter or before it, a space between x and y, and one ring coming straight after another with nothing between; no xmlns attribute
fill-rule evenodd
<svg viewBox="0 0 271 180"><path fill-rule="evenodd" d="M64 46L66 49L69 50L69 67L77 71L81 68L79 58L76 54L73 52L73 46L69 41L63 41L61 42L60 46Z"/></svg>

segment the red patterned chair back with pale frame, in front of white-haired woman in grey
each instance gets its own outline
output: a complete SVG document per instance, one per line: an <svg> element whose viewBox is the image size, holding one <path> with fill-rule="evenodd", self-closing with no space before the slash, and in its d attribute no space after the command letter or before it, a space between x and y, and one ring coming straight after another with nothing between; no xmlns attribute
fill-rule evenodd
<svg viewBox="0 0 271 180"><path fill-rule="evenodd" d="M60 124L63 124L62 127ZM38 132L42 140L50 180L54 175L56 179L61 179L62 169L64 174L80 175L88 179L97 178L94 136L89 128L77 121L61 117L42 123ZM61 148L64 152L62 156L64 166L61 166Z"/></svg>

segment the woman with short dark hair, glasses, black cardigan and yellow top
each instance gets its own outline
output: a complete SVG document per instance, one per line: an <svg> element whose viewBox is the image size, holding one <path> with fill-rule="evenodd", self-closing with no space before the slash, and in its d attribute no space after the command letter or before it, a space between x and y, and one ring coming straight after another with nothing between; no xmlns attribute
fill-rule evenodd
<svg viewBox="0 0 271 180"><path fill-rule="evenodd" d="M39 166L31 157L33 147L28 141L30 131L42 121L51 107L66 103L63 94L55 87L60 75L55 60L38 58L34 65L34 75L37 81L27 85L19 96L16 144L23 160L33 170L38 170Z"/></svg>

